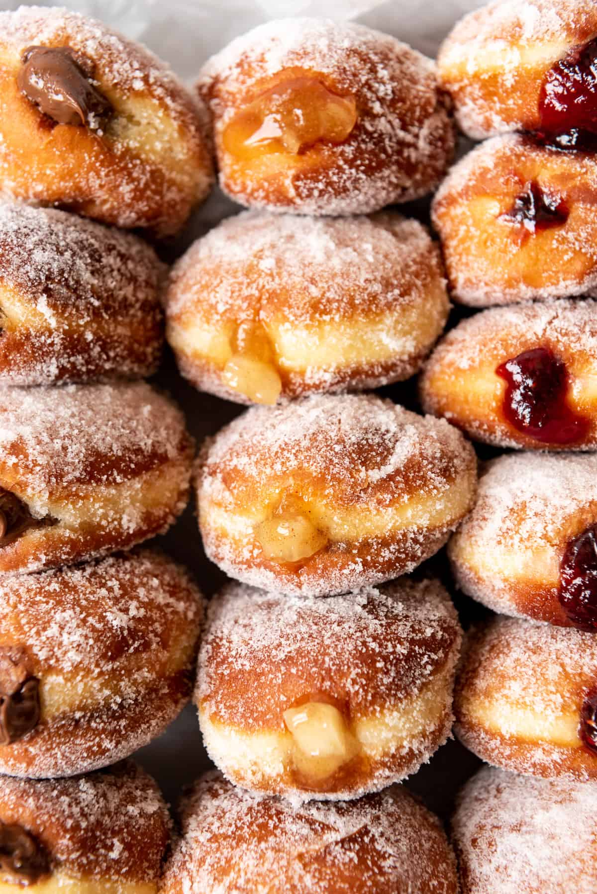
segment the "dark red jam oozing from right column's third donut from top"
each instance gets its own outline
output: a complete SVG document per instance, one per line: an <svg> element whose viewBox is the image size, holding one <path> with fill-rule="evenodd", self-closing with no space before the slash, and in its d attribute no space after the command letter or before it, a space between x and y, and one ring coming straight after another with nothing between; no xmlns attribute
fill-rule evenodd
<svg viewBox="0 0 597 894"><path fill-rule="evenodd" d="M500 364L496 374L507 382L502 412L516 431L551 444L584 438L589 421L568 406L566 364L549 349L525 350Z"/></svg>

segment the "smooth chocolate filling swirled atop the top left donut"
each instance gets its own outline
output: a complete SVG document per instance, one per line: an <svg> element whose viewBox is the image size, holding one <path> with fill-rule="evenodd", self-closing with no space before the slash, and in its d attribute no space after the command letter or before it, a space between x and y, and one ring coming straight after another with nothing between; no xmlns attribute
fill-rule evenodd
<svg viewBox="0 0 597 894"><path fill-rule="evenodd" d="M21 56L17 85L56 124L98 130L112 112L91 83L93 63L70 46L29 46Z"/></svg>

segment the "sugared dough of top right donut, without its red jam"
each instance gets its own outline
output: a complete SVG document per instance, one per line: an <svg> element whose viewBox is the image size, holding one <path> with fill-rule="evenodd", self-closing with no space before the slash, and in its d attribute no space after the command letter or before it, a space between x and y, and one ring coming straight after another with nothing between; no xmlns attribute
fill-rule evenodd
<svg viewBox="0 0 597 894"><path fill-rule="evenodd" d="M545 73L597 32L591 0L493 0L456 23L439 49L439 78L473 139L537 129Z"/></svg>

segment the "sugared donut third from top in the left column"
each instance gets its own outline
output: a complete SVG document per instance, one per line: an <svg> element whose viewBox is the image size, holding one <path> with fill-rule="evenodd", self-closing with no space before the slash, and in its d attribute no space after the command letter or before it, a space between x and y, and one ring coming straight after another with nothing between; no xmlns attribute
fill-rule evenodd
<svg viewBox="0 0 597 894"><path fill-rule="evenodd" d="M0 386L0 572L125 549L183 511L192 441L144 383Z"/></svg>

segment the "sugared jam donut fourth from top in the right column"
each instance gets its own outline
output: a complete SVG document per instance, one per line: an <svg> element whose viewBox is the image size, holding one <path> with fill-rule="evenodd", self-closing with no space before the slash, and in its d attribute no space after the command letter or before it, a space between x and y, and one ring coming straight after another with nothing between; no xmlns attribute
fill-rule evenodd
<svg viewBox="0 0 597 894"><path fill-rule="evenodd" d="M458 585L494 611L597 630L597 454L490 461L448 554Z"/></svg>

